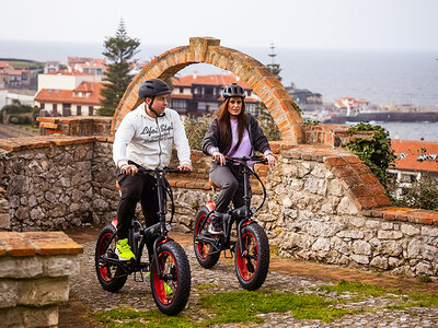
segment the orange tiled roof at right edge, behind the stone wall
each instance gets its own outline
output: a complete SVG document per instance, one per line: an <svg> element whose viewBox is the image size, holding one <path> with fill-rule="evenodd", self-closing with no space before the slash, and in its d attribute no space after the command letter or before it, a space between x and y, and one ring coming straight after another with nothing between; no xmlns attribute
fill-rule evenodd
<svg viewBox="0 0 438 328"><path fill-rule="evenodd" d="M438 142L393 139L391 148L397 156L395 168L438 173ZM422 149L427 156L422 155Z"/></svg>

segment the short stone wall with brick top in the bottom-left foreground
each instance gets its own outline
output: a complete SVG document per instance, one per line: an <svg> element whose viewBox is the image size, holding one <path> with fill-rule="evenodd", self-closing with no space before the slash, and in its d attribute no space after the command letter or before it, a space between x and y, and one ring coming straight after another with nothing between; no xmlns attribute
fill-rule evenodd
<svg viewBox="0 0 438 328"><path fill-rule="evenodd" d="M0 232L1 327L57 327L80 253L61 232Z"/></svg>

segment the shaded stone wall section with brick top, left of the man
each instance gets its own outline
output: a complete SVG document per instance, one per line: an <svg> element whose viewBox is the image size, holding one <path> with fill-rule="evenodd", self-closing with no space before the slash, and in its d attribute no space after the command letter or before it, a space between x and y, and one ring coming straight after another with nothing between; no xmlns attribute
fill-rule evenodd
<svg viewBox="0 0 438 328"><path fill-rule="evenodd" d="M65 230L115 215L112 144L89 137L4 139L0 229ZM4 149L9 150L5 151Z"/></svg>

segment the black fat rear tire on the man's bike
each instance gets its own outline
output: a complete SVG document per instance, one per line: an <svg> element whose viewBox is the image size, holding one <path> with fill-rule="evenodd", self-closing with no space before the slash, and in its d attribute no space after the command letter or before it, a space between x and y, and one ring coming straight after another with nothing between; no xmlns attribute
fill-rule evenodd
<svg viewBox="0 0 438 328"><path fill-rule="evenodd" d="M97 274L97 280L101 283L102 288L105 291L115 293L119 291L126 283L126 279L128 278L126 274L123 274L123 270L120 268L115 269L113 277L117 278L111 278L107 274L108 268L103 268L102 266L99 265L99 258L101 255L103 255L105 248L106 248L106 243L111 239L111 237L116 233L116 229L112 225L108 224L106 225L101 233L99 234L97 242L96 242L96 247L95 247L95 255L94 255L94 262L95 262L95 269L96 269L96 274ZM115 239L113 238L114 247L115 247Z"/></svg>

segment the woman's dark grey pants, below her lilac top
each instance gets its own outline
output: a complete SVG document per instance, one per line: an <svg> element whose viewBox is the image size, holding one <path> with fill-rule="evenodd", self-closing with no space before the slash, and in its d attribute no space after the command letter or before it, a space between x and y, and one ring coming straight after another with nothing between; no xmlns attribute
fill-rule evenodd
<svg viewBox="0 0 438 328"><path fill-rule="evenodd" d="M243 173L239 165L222 166L211 163L210 180L220 188L216 199L216 211L226 213L231 201L235 209L244 206Z"/></svg>

